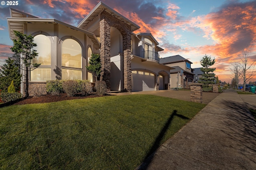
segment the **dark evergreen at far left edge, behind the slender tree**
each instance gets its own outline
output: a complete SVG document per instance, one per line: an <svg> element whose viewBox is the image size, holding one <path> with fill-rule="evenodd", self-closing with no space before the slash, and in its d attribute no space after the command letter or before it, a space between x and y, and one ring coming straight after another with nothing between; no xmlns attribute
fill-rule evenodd
<svg viewBox="0 0 256 170"><path fill-rule="evenodd" d="M0 69L0 90L8 92L8 86L10 86L13 80L15 90L19 91L21 78L19 67L16 66L14 59L10 57L5 62Z"/></svg>

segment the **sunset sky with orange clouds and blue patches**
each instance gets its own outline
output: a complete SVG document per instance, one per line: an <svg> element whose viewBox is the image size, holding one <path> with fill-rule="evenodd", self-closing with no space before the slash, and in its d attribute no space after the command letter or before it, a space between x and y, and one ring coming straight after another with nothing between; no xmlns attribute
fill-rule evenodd
<svg viewBox="0 0 256 170"><path fill-rule="evenodd" d="M2 0L1 0L2 1ZM4 0L7 2L6 0ZM98 0L18 0L17 6L0 5L0 65L12 56L6 18L14 8L39 18L54 18L77 26ZM256 0L102 0L140 26L134 33L152 33L164 49L160 57L181 55L201 67L210 55L219 80L231 83L232 63L250 50L256 60ZM256 81L255 78L252 79ZM242 82L240 82L242 83Z"/></svg>

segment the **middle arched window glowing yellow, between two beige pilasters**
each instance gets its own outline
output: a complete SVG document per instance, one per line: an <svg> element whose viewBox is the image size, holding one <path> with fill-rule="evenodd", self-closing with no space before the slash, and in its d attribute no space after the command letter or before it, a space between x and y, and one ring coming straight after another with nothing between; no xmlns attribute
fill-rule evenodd
<svg viewBox="0 0 256 170"><path fill-rule="evenodd" d="M82 80L82 48L74 39L62 42L62 79Z"/></svg>

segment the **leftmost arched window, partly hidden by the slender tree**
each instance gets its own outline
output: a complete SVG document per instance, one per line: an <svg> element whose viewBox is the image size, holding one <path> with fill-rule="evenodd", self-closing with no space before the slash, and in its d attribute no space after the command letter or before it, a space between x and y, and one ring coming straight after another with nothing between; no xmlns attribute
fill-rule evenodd
<svg viewBox="0 0 256 170"><path fill-rule="evenodd" d="M51 41L46 35L36 35L34 43L38 56L32 59L32 64L41 64L38 68L30 68L30 81L46 81L51 80Z"/></svg>

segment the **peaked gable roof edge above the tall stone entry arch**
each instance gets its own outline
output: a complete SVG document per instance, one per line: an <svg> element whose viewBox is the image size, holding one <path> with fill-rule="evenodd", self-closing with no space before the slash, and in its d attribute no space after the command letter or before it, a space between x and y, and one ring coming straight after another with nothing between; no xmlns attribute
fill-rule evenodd
<svg viewBox="0 0 256 170"><path fill-rule="evenodd" d="M94 20L94 18L96 18L102 11L106 11L109 14L111 14L112 16L118 18L119 20L127 23L128 25L131 26L132 28L132 32L139 29L140 26L138 26L136 23L128 20L127 18L125 18L124 16L122 16L121 14L119 14L118 12L116 12L115 10L113 10L112 8L110 8L109 6L107 6L106 4L104 4L103 2L99 2L97 6L95 6L93 8L93 10L84 18L84 20L82 20L77 27L84 29L84 27L91 22L92 20Z"/></svg>

